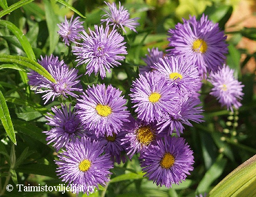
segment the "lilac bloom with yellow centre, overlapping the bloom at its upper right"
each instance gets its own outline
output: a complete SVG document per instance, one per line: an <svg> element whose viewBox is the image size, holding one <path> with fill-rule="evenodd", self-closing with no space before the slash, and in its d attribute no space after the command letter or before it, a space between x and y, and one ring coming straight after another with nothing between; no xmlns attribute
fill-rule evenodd
<svg viewBox="0 0 256 197"><path fill-rule="evenodd" d="M168 112L174 110L179 99L176 89L159 73L139 74L131 88L131 102L135 103L138 118L144 121L160 120Z"/></svg>

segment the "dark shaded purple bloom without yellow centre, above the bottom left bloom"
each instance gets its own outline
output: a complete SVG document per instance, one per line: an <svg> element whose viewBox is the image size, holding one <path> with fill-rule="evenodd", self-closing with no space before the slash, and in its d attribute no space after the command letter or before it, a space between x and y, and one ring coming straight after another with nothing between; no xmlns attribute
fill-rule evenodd
<svg viewBox="0 0 256 197"><path fill-rule="evenodd" d="M70 141L75 141L77 137L85 135L84 128L80 124L80 120L77 117L76 110L71 111L71 104L69 108L61 104L61 108L52 107L54 115L47 113L46 119L48 125L53 128L49 131L43 131L46 133L48 141L47 144L54 143L52 146L59 151L64 148Z"/></svg>

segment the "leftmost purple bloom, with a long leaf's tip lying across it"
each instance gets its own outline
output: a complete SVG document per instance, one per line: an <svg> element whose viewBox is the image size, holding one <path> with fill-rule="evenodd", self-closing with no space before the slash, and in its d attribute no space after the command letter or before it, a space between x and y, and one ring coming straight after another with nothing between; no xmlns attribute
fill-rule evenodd
<svg viewBox="0 0 256 197"><path fill-rule="evenodd" d="M40 76L40 74L31 71L28 73L28 79L30 85L37 85L36 93L44 93L42 96L43 100L46 100L44 104L48 102L49 99L55 99L55 97L63 96L67 98L67 94L72 97L77 97L77 94L73 93L73 91L82 91L78 85L80 82L77 73L79 70L72 68L69 69L64 61L59 61L58 58L50 56L50 57L41 57L42 61L39 61L39 64L43 64L43 67L52 75L52 77L56 80L56 83L49 81L47 78ZM38 82L36 82L38 80Z"/></svg>

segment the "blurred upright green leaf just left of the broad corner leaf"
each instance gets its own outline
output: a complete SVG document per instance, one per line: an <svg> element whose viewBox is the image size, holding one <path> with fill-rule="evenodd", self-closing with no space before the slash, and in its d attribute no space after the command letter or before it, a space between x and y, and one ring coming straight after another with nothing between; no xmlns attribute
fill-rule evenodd
<svg viewBox="0 0 256 197"><path fill-rule="evenodd" d="M222 174L226 166L226 158L220 154L214 164L205 173L203 179L200 181L196 191L200 194L208 190L209 186ZM225 196L225 195L224 195Z"/></svg>

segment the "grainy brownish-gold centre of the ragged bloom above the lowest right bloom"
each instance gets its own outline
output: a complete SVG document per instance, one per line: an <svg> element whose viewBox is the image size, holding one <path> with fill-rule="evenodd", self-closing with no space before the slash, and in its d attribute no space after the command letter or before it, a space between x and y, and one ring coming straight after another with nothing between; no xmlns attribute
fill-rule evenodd
<svg viewBox="0 0 256 197"><path fill-rule="evenodd" d="M137 129L135 132L137 140L143 144L148 145L151 141L154 140L155 136L150 126L142 126Z"/></svg>

